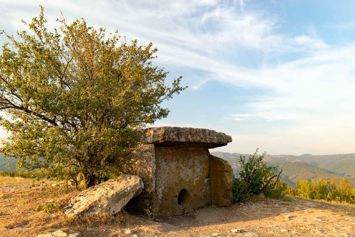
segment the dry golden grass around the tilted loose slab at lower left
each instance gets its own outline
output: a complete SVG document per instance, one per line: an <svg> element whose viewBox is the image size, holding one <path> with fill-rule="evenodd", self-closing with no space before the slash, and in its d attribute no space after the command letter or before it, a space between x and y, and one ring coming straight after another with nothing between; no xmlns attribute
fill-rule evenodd
<svg viewBox="0 0 355 237"><path fill-rule="evenodd" d="M13 182L15 179L10 180ZM98 236L102 228L134 227L146 221L143 217L127 213L116 216L68 218L63 213L63 207L78 192L75 188L66 185L50 184L42 184L31 189L20 187L20 189L0 190L0 236L33 237L63 230L67 233L80 232L83 237L92 237ZM13 230L15 227L26 228Z"/></svg>

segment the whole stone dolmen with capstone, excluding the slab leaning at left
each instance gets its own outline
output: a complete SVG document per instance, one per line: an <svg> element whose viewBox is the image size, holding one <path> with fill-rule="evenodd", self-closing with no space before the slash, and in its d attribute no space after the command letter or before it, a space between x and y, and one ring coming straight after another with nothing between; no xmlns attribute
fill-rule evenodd
<svg viewBox="0 0 355 237"><path fill-rule="evenodd" d="M127 208L152 218L181 215L208 206L231 205L233 173L209 154L232 139L209 129L160 127L141 130L142 145L117 161L124 173L142 178L144 189Z"/></svg>

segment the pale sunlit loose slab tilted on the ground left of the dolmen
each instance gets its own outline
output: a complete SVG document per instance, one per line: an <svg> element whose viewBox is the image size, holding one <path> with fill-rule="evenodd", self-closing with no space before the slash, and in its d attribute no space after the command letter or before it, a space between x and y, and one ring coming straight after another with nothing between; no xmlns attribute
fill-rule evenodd
<svg viewBox="0 0 355 237"><path fill-rule="evenodd" d="M120 212L130 199L140 194L143 188L140 177L125 174L73 196L65 214L67 216L115 214Z"/></svg>

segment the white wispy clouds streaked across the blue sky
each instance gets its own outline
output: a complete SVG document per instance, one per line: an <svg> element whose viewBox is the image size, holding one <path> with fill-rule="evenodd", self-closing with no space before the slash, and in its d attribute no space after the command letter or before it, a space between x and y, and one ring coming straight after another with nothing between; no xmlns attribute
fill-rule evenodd
<svg viewBox="0 0 355 237"><path fill-rule="evenodd" d="M292 29L280 31L278 15L251 9L248 3L2 0L0 24L10 31L24 29L20 18L31 20L38 14L39 4L46 8L50 22L59 16L59 10L68 20L83 17L89 25L104 26L111 32L119 29L122 36L140 39L141 44L152 41L159 49L156 61L159 65L203 72L203 76L185 75L184 83L189 84L189 89L200 90L217 81L263 90L251 95L252 102L239 106L242 111L232 109L233 101L226 101L225 106L231 109L228 114L215 114L217 119L240 124L254 120L295 122L293 127L282 131L287 137L258 134L256 139L256 135L239 135L235 137L237 140L268 143L302 140L302 136L319 140L315 134L329 137L322 144L329 144L337 136L353 139L355 43L328 45L313 28L300 34ZM50 26L56 25L50 23ZM166 124L206 125L193 120ZM307 146L304 140L300 146Z"/></svg>

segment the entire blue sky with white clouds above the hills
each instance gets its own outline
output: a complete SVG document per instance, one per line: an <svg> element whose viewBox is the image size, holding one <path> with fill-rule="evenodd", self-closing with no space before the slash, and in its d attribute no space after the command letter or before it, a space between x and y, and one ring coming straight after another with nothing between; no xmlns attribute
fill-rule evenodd
<svg viewBox="0 0 355 237"><path fill-rule="evenodd" d="M211 152L355 152L355 1L0 0L0 29L27 29L21 19L38 16L38 5L49 29L62 11L153 42L167 82L181 75L189 86L162 104L170 114L154 126L233 138Z"/></svg>

